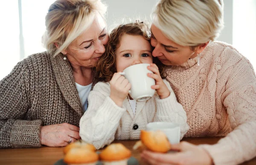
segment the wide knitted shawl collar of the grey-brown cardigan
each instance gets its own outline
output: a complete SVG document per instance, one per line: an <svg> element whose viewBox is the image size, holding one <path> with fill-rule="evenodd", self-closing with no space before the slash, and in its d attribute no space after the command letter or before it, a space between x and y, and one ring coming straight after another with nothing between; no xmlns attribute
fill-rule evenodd
<svg viewBox="0 0 256 165"><path fill-rule="evenodd" d="M80 115L83 115L81 102L76 89L75 79L73 77L72 68L68 60L64 60L61 53L53 57L50 55L52 69L65 100Z"/></svg>

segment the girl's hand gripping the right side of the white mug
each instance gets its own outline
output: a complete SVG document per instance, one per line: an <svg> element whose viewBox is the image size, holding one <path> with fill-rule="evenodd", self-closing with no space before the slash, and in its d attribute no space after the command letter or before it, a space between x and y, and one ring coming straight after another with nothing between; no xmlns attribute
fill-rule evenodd
<svg viewBox="0 0 256 165"><path fill-rule="evenodd" d="M148 77L154 78L156 81L156 84L152 85L151 88L157 91L157 94L160 97L160 99L170 96L170 91L166 84L163 82L157 65L150 64L150 66L148 66L148 70L151 70L153 72L148 73Z"/></svg>

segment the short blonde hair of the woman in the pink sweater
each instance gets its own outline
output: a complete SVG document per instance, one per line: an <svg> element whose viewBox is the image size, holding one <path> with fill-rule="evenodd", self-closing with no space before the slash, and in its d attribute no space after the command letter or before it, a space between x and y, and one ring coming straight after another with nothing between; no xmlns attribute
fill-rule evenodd
<svg viewBox="0 0 256 165"><path fill-rule="evenodd" d="M160 0L151 14L167 38L182 46L214 41L223 28L222 0Z"/></svg>

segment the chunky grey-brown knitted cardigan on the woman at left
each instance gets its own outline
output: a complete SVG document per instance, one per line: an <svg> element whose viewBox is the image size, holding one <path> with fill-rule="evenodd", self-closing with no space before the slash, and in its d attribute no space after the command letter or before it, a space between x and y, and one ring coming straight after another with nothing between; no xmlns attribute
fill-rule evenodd
<svg viewBox="0 0 256 165"><path fill-rule="evenodd" d="M79 126L82 114L69 62L30 55L0 81L0 148L40 147L41 126Z"/></svg>

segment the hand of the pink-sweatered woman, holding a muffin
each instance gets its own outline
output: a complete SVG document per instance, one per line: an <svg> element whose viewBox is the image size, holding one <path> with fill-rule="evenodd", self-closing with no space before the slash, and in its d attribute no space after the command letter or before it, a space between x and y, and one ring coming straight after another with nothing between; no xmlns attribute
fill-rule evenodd
<svg viewBox="0 0 256 165"><path fill-rule="evenodd" d="M141 158L151 165L213 165L212 158L203 148L188 142L172 145L177 153L143 151Z"/></svg>

